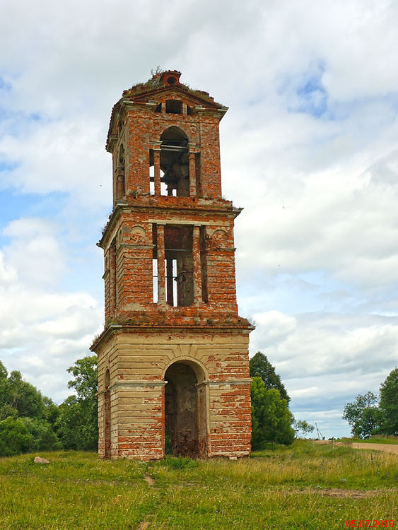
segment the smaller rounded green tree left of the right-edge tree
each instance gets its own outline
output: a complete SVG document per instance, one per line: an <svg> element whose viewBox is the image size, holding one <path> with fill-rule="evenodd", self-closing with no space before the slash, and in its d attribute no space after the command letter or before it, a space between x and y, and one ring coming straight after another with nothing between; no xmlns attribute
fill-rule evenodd
<svg viewBox="0 0 398 530"><path fill-rule="evenodd" d="M359 394L353 403L344 406L343 419L351 425L351 432L358 438L368 438L378 432L382 415L373 392Z"/></svg>

